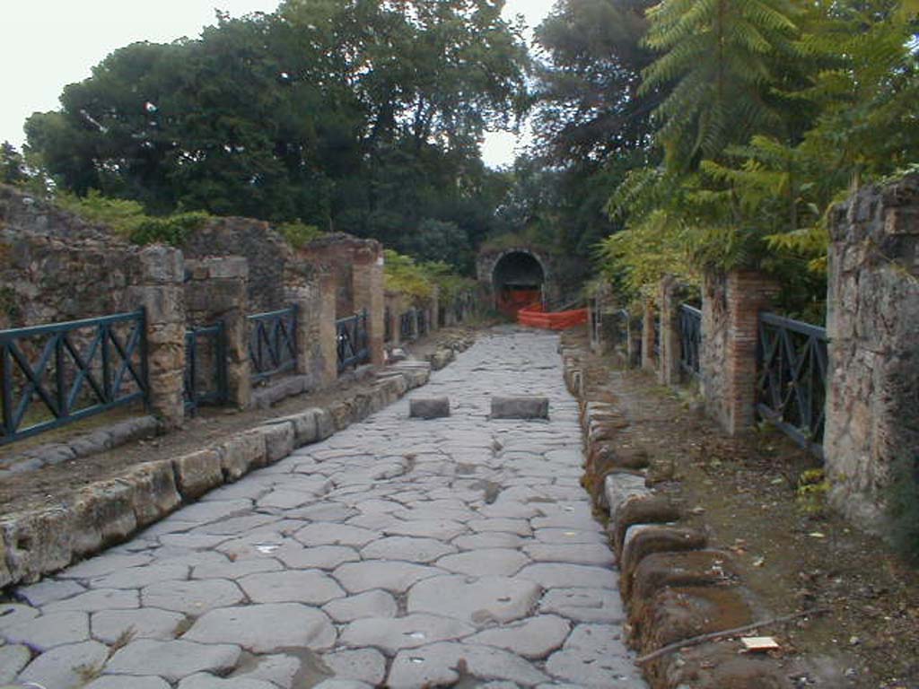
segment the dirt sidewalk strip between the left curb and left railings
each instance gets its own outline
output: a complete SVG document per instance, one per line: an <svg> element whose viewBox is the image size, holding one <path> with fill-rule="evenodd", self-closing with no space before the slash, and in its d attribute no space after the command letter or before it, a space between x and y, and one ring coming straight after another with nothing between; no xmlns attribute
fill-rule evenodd
<svg viewBox="0 0 919 689"><path fill-rule="evenodd" d="M437 347L437 343L458 333L469 332L463 328L449 328L437 331L406 346L415 359L424 360ZM74 491L96 480L117 476L124 469L156 459L176 457L200 447L220 442L227 435L233 435L263 423L267 419L296 413L308 407L325 406L344 398L362 385L357 381L339 382L331 390L313 392L289 397L266 410L252 409L239 412L221 407L202 407L199 413L188 418L179 431L160 435L150 440L141 440L116 447L108 452L63 462L54 467L38 471L24 471L0 479L0 516L20 510L41 506L52 506L66 502ZM15 454L28 446L62 442L67 438L89 433L106 424L113 424L130 417L130 413L142 413L142 409L116 410L92 417L76 424L64 426L50 433L36 436L21 443L0 448L0 453ZM3 457L3 454L0 454Z"/></svg>

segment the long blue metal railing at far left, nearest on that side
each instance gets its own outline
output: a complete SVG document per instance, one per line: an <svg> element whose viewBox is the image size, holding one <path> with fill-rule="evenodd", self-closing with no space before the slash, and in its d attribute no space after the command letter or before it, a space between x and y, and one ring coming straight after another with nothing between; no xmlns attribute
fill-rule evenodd
<svg viewBox="0 0 919 689"><path fill-rule="evenodd" d="M144 312L0 331L0 445L145 400Z"/></svg>

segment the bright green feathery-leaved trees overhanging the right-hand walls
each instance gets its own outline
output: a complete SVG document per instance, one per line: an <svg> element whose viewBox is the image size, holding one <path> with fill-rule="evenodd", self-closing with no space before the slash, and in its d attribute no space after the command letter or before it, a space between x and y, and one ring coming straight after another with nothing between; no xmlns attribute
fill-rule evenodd
<svg viewBox="0 0 919 689"><path fill-rule="evenodd" d="M627 0L610 0L628 6ZM600 244L635 292L663 272L760 267L784 311L823 318L826 219L853 188L919 158L917 3L667 0L640 45L647 164L609 199ZM658 162L659 161L659 162Z"/></svg>

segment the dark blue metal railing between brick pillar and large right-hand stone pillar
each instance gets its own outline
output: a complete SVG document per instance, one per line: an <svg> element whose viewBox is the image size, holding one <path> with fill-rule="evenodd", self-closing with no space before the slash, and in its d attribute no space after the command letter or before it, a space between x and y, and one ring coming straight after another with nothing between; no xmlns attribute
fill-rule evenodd
<svg viewBox="0 0 919 689"><path fill-rule="evenodd" d="M825 328L760 314L756 411L818 455L826 419L826 344Z"/></svg>

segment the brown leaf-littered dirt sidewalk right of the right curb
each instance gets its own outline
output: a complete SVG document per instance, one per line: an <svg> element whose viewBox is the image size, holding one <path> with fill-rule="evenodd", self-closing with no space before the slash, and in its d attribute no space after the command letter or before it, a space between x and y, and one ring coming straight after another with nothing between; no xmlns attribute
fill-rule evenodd
<svg viewBox="0 0 919 689"><path fill-rule="evenodd" d="M723 435L690 390L664 388L649 373L595 357L589 376L629 418L628 442L648 450L657 487L709 531L713 547L732 551L757 619L827 609L774 627L782 654L841 669L840 689L919 688L919 571L831 512L819 493L800 491L802 472L820 467L816 458L772 427Z"/></svg>

